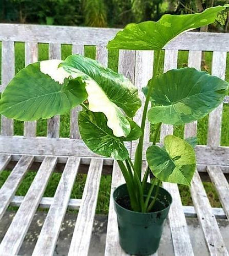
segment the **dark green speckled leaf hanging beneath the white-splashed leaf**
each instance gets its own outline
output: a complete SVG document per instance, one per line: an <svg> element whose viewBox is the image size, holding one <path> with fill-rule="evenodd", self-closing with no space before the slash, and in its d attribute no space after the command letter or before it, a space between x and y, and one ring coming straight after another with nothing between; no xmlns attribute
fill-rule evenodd
<svg viewBox="0 0 229 256"><path fill-rule="evenodd" d="M115 137L107 127L107 118L101 112L81 111L79 113L79 130L84 143L96 154L126 160L128 150L124 141L137 140L141 136L140 127L128 118L131 131L127 137Z"/></svg>

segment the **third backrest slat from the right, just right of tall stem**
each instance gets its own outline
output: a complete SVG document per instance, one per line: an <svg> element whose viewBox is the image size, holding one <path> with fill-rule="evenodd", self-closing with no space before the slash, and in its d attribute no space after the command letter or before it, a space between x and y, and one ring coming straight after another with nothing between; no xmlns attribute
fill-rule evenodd
<svg viewBox="0 0 229 256"><path fill-rule="evenodd" d="M177 68L177 50L165 50L165 60L164 60L164 72L167 72L170 69ZM166 135L172 134L173 126L170 124L161 125L161 135L160 141L163 141Z"/></svg>

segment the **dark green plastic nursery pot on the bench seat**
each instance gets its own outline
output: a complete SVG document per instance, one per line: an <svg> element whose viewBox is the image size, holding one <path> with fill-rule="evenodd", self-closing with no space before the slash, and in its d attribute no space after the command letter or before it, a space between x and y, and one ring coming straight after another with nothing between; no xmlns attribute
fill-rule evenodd
<svg viewBox="0 0 229 256"><path fill-rule="evenodd" d="M149 191L150 186L150 183L146 184L145 194ZM118 220L119 243L122 249L129 254L153 254L159 247L163 222L170 210L172 197L167 190L160 187L155 202L155 209L157 211L152 213L137 213L125 209L117 203L117 200L127 195L126 184L117 187L113 192ZM154 194L151 197L153 198Z"/></svg>

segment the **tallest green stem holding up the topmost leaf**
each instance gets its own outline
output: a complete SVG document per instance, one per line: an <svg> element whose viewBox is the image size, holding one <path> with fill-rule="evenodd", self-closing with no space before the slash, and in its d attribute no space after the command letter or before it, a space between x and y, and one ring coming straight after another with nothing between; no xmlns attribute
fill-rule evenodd
<svg viewBox="0 0 229 256"><path fill-rule="evenodd" d="M154 77L156 77L156 75L158 73L161 51L159 50L159 51L155 51L155 52L156 52L156 58L155 58L154 71L153 71L153 74L152 74L152 79L154 79ZM150 101L151 92L152 92L152 89L153 89L152 83L148 83L148 86L149 86L148 94L146 95L145 105L144 105L144 108L143 108L143 117L141 119L142 135L139 138L139 143L138 143L137 149L135 151L135 161L134 161L135 171L137 172L137 175L138 175L139 179L141 179L141 165L142 165L142 160L143 160L143 140L144 140L146 115L147 115L147 111L148 111L148 105L149 105L149 101Z"/></svg>

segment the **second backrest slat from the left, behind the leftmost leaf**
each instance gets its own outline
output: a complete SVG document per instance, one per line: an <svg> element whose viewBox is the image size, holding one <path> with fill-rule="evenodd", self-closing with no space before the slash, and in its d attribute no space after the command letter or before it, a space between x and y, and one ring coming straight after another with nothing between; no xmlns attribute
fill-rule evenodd
<svg viewBox="0 0 229 256"><path fill-rule="evenodd" d="M25 43L25 66L31 63L37 62L38 49L37 43L26 42ZM24 122L24 136L25 137L36 137L36 121Z"/></svg>

